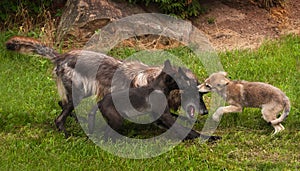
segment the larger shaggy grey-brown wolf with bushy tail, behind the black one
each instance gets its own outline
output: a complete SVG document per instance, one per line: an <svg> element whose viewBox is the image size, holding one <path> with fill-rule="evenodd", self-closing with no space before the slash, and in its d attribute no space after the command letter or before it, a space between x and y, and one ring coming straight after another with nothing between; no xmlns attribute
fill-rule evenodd
<svg viewBox="0 0 300 171"><path fill-rule="evenodd" d="M36 53L54 63L54 76L62 98L62 112L55 119L55 124L66 137L68 133L65 129L65 121L82 98L95 95L96 99L100 100L104 95L116 90L147 85L162 70L162 67L149 67L137 61L120 61L105 54L86 50L72 50L59 54L38 40L28 37L12 37L6 42L6 47L8 50L20 53ZM116 72L118 72L118 81L112 84ZM194 76L191 72L187 75ZM180 98L177 97L177 101ZM200 99L199 111L206 114L207 109L202 94Z"/></svg>

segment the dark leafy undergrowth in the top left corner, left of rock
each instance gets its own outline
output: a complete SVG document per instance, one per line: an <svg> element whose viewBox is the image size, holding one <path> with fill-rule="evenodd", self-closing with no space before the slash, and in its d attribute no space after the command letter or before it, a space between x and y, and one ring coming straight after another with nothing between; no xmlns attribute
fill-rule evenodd
<svg viewBox="0 0 300 171"><path fill-rule="evenodd" d="M0 30L18 29L19 32L27 34L36 31L36 28L52 26L56 22L52 16L61 15L61 9L54 8L59 3L54 0L2 0L0 1Z"/></svg>

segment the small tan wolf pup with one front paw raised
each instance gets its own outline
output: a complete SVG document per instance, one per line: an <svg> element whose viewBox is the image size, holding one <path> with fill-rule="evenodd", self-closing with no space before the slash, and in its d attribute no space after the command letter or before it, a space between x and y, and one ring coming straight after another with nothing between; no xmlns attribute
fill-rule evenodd
<svg viewBox="0 0 300 171"><path fill-rule="evenodd" d="M244 107L254 107L262 109L264 120L275 129L274 134L284 130L281 122L288 116L291 105L281 90L262 82L231 81L226 76L226 72L213 73L198 86L200 92L216 92L229 104L217 109L213 114L215 121L219 121L223 113L242 112Z"/></svg>

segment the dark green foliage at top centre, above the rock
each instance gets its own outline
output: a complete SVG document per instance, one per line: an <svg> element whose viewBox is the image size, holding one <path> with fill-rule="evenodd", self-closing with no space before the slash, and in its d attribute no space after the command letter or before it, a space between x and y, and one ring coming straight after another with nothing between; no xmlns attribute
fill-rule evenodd
<svg viewBox="0 0 300 171"><path fill-rule="evenodd" d="M199 15L203 9L198 0L128 0L130 3L145 3L158 5L159 9L165 13L180 18L188 18Z"/></svg>

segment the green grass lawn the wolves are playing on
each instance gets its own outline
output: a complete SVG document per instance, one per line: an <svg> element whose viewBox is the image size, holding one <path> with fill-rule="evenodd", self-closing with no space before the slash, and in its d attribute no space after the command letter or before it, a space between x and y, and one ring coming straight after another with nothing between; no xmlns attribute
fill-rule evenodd
<svg viewBox="0 0 300 171"><path fill-rule="evenodd" d="M53 123L60 113L52 64L37 56L7 52L0 35L0 170L299 170L300 169L300 38L286 36L266 42L255 51L220 53L232 79L263 81L282 89L292 102L286 130L271 136L272 127L257 109L222 118L217 143L197 140L180 143L150 159L114 156L92 141L73 119L65 139ZM110 54L126 58L136 50L115 49ZM207 74L188 49L168 52L180 56L202 81ZM195 64L192 64L195 63ZM209 101L210 95L205 99ZM207 116L199 116L201 130ZM116 147L117 148L117 147ZM147 147L145 147L146 151Z"/></svg>

